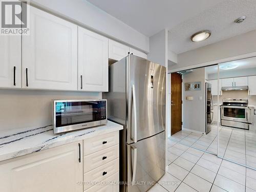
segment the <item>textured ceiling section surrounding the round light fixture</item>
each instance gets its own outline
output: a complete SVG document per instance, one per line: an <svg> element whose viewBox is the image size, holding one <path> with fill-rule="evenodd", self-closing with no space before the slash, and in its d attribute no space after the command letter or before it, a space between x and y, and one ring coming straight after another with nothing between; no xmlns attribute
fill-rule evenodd
<svg viewBox="0 0 256 192"><path fill-rule="evenodd" d="M247 16L243 23L233 22L243 15ZM190 41L192 34L204 29L212 32L208 39L202 42ZM170 29L168 46L179 54L255 29L255 0L225 0Z"/></svg>

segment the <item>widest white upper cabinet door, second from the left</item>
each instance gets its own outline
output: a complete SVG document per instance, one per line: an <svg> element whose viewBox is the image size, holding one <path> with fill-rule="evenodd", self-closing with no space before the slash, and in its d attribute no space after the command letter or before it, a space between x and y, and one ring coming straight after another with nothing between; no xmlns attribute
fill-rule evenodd
<svg viewBox="0 0 256 192"><path fill-rule="evenodd" d="M30 7L30 28L22 36L22 87L77 90L77 26Z"/></svg>

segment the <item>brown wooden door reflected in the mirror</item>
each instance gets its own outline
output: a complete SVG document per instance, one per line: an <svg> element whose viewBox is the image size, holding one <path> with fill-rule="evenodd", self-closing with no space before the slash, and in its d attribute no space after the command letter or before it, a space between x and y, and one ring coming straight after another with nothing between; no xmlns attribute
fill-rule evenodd
<svg viewBox="0 0 256 192"><path fill-rule="evenodd" d="M181 131L182 127L182 76L172 73L171 77L171 135Z"/></svg>

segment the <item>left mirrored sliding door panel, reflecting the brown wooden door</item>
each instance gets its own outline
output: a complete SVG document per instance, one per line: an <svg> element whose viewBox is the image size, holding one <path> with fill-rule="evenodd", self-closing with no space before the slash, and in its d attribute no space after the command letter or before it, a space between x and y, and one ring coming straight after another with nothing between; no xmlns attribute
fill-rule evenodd
<svg viewBox="0 0 256 192"><path fill-rule="evenodd" d="M217 73L218 65L171 74L170 145L180 142L217 155ZM175 148L169 151L175 153Z"/></svg>

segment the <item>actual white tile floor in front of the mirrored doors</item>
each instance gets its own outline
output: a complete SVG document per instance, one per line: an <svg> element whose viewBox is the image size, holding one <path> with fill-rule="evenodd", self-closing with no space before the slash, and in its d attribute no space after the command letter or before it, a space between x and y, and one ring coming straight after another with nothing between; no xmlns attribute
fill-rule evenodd
<svg viewBox="0 0 256 192"><path fill-rule="evenodd" d="M168 172L150 192L256 192L255 170L170 139L168 162Z"/></svg>

